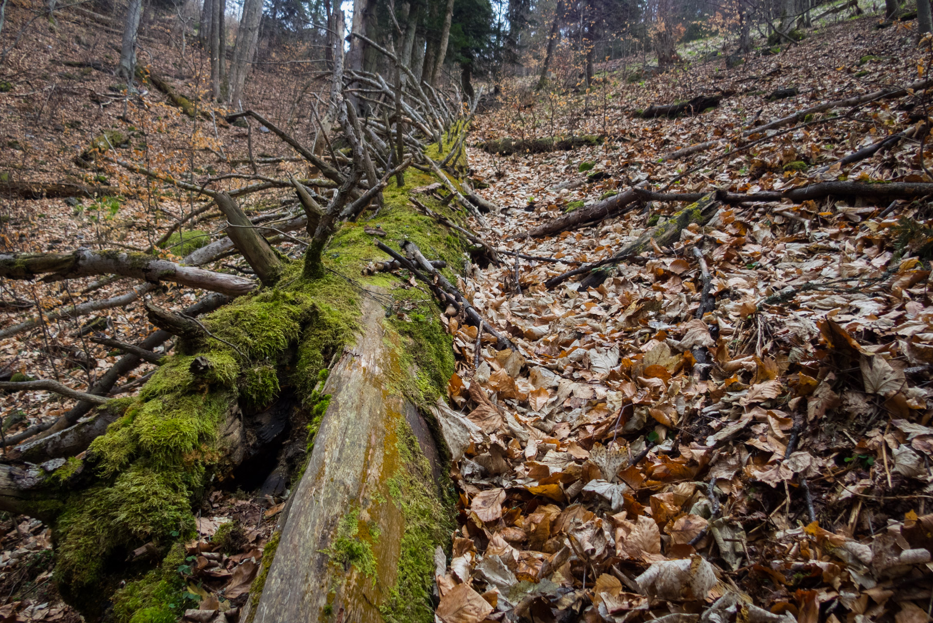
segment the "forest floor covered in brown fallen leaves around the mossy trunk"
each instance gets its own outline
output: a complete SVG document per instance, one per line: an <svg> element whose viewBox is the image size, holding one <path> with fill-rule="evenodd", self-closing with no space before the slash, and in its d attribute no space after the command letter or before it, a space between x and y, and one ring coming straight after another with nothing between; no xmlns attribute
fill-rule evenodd
<svg viewBox="0 0 933 623"><path fill-rule="evenodd" d="M7 7L3 46L28 21L26 8ZM55 24L40 21L41 32L31 26L33 36L10 53L0 82L8 85L0 90L0 176L7 176L0 182L118 183L123 191L78 202L0 199L5 252L146 250L173 219L202 206L187 195L151 193L141 177L118 168L77 166L75 157L105 130L125 141L104 151L165 170L194 167L204 179L244 170L231 161L248 161L249 149L257 158L294 156L255 124L190 120L155 90L124 107L108 73L116 37L84 21L64 12ZM929 43L918 47L916 22L884 29L877 22L806 31L801 42L759 50L733 68L718 57L632 81L630 72L604 72L588 93L535 93L517 80L485 106L470 135L471 178L503 209L487 215L491 229L480 235L496 248L557 262L503 254L508 262L500 266L470 264L459 283L517 350L484 343L476 368L475 328L449 320L460 356L450 398L463 413L450 409L447 417L465 436L453 448L460 529L439 574L445 623L509 613L548 621L551 608L560 620L671 616L686 623L701 611L703 620L731 619L736 601L754 604L738 615L751 621L929 620L928 198L720 205L713 220L620 262L592 287L544 282L610 257L686 204L638 203L572 232L523 234L643 181L655 189L674 182L672 192L784 191L840 178L931 181L930 156L921 155L929 102L919 91L821 111L772 136L741 136L809 106L926 78ZM203 59L186 64L168 24L151 22L144 35L153 37L144 39L146 62L196 92ZM103 70L65 61L98 61ZM254 100L267 106L258 110L290 126L303 83L285 68L263 71L251 80ZM797 92L769 99L789 88ZM698 95L721 101L676 119L637 116ZM910 128L912 136L891 149L834 164ZM509 156L480 149L504 137L568 135L606 140ZM667 157L714 140L722 143ZM303 171L287 160L262 166L276 177ZM245 207L285 219L299 210L289 194L272 191ZM221 229L206 214L187 228L203 240ZM278 248L297 255L301 246L286 240ZM181 248L160 253L184 255ZM244 264L231 259L215 268ZM35 316L35 304L48 316L128 288L118 280L88 290L93 283L0 283L0 331ZM704 289L715 307L698 316ZM174 308L196 297L178 287L157 294ZM108 336L127 342L151 329L139 303L97 316ZM60 378L87 389L118 355L78 336L89 320L40 318L39 328L0 340L4 378ZM698 348L711 366L698 365ZM138 368L125 389L151 370ZM0 401L6 436L71 406L41 391ZM248 530L235 551L194 561L187 573L200 584L192 582L192 598L209 605L219 595L217 607L225 607L230 595L244 594L279 503L244 491L203 501L205 539L226 517ZM7 517L0 532L0 620L77 620L49 581L48 528Z"/></svg>

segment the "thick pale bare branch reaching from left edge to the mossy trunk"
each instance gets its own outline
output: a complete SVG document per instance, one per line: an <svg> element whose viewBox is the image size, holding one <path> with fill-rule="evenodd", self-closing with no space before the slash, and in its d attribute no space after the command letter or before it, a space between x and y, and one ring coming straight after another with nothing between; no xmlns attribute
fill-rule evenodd
<svg viewBox="0 0 933 623"><path fill-rule="evenodd" d="M51 280L78 276L132 276L143 281L174 281L189 288L201 288L230 296L240 296L256 289L256 284L242 276L225 275L159 260L146 253L127 251L92 251L79 248L72 253L0 253L0 276L10 279L33 279L49 275Z"/></svg>

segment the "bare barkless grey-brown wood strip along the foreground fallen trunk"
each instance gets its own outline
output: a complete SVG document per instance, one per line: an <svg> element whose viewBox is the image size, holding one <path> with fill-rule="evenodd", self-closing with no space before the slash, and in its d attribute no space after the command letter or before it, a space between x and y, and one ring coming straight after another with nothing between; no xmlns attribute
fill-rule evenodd
<svg viewBox="0 0 933 623"><path fill-rule="evenodd" d="M327 378L324 390L331 394L330 404L304 476L280 520L284 528L254 623L316 620L327 604L339 620L382 621L379 608L391 607L390 589L403 573L399 549L406 531L413 529L405 503L395 502L387 485L399 470L413 465L399 454L400 442L386 443L386 434L396 438L402 429L411 429L418 442L411 449L432 460L435 469L441 467L417 409L399 393L383 389L383 365L397 367L398 354L387 347L383 308L370 298L365 301L363 332ZM438 500L432 485L424 483L422 493ZM338 543L348 538L341 533L345 517L362 517L363 512L369 533L379 534L371 540L374 567L369 570L358 561L350 565L341 559ZM351 528L355 533L355 520ZM333 582L335 563L342 582ZM378 572L378 582L369 577L373 572Z"/></svg>

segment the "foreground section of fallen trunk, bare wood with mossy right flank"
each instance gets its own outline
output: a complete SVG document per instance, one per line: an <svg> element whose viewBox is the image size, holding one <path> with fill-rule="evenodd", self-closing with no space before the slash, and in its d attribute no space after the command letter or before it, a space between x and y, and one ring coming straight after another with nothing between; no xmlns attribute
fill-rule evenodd
<svg viewBox="0 0 933 623"><path fill-rule="evenodd" d="M436 484L446 453L418 410L383 389L383 366L404 365L393 338L385 339L384 316L371 299L364 304L362 334L328 377L327 414L280 519L255 613L242 620L310 621L332 612L337 620L382 621L383 611L421 620L433 612L425 597L435 550L452 525L450 501ZM387 443L386 434L397 441Z"/></svg>

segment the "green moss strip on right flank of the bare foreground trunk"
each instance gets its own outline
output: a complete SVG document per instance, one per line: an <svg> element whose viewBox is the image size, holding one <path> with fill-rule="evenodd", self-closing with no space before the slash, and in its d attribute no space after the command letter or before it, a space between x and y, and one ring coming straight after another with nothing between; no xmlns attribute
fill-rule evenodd
<svg viewBox="0 0 933 623"><path fill-rule="evenodd" d="M380 612L388 623L432 623L434 603L434 552L450 545L453 520L453 486L443 477L439 489L431 465L418 446L408 423L397 427L400 467L388 481L389 495L405 519L396 583Z"/></svg>

